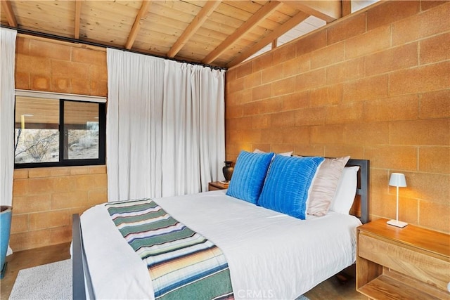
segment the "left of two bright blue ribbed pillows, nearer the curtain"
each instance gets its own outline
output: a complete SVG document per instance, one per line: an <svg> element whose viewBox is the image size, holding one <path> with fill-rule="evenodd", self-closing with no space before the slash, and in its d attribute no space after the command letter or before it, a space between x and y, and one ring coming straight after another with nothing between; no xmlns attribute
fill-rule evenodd
<svg viewBox="0 0 450 300"><path fill-rule="evenodd" d="M273 152L240 151L226 195L256 204Z"/></svg>

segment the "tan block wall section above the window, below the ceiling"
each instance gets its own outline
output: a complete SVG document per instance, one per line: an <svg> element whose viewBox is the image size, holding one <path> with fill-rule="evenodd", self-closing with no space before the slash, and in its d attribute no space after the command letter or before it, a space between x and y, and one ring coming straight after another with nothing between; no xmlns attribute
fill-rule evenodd
<svg viewBox="0 0 450 300"><path fill-rule="evenodd" d="M93 49L19 34L15 89L107 96L105 48Z"/></svg>

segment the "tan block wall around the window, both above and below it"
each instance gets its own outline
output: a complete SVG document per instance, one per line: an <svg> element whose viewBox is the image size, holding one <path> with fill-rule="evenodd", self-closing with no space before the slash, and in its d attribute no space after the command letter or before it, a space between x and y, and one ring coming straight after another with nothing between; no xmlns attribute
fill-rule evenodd
<svg viewBox="0 0 450 300"><path fill-rule="evenodd" d="M104 48L18 34L15 88L108 96ZM72 214L107 200L105 166L15 169L13 251L72 240Z"/></svg>

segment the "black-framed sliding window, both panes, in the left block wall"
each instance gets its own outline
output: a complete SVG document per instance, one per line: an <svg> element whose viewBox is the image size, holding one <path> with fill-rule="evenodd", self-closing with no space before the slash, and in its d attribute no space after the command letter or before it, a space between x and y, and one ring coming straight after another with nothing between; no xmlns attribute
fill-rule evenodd
<svg viewBox="0 0 450 300"><path fill-rule="evenodd" d="M15 96L15 168L105 164L105 103Z"/></svg>

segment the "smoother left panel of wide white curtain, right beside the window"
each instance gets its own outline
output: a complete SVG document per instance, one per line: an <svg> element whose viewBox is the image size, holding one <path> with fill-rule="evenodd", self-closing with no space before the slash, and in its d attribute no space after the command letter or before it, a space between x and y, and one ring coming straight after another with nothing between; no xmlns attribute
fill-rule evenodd
<svg viewBox="0 0 450 300"><path fill-rule="evenodd" d="M108 201L161 194L164 61L107 49Z"/></svg>

